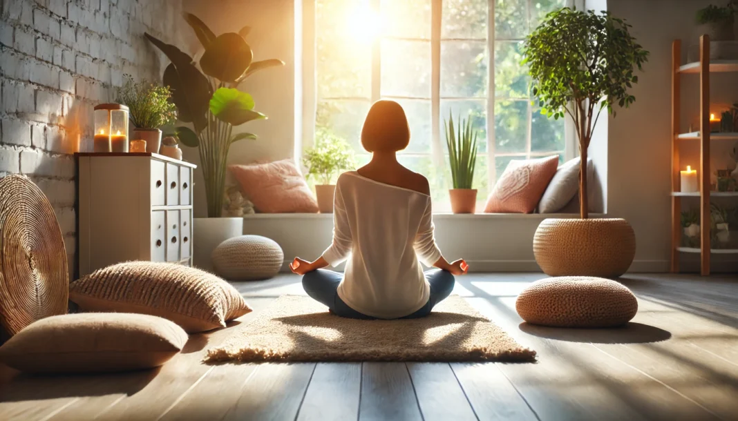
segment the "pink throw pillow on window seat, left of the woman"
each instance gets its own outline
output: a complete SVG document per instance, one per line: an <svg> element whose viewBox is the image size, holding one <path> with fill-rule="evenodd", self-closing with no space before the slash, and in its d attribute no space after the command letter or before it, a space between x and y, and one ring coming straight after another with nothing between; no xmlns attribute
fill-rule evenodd
<svg viewBox="0 0 738 421"><path fill-rule="evenodd" d="M318 203L292 159L228 168L258 212L318 212Z"/></svg>

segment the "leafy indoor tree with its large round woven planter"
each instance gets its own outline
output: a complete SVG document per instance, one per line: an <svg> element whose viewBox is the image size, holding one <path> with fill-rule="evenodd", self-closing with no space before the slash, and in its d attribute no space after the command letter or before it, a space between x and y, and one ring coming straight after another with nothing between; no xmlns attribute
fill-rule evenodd
<svg viewBox="0 0 738 421"><path fill-rule="evenodd" d="M638 82L635 69L648 58L630 25L610 13L568 7L549 13L525 40L523 63L541 113L570 118L579 139L581 219L546 219L534 237L534 254L551 276L616 277L635 256L635 234L623 219L588 219L587 147L603 111L628 107Z"/></svg>

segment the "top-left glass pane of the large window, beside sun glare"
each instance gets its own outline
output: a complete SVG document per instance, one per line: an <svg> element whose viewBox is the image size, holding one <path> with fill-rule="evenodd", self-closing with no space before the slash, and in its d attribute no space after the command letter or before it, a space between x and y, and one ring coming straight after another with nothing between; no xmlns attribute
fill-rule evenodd
<svg viewBox="0 0 738 421"><path fill-rule="evenodd" d="M371 96L371 54L357 48L356 38L347 35L347 17L355 13L353 3L316 2L317 94L321 98Z"/></svg>

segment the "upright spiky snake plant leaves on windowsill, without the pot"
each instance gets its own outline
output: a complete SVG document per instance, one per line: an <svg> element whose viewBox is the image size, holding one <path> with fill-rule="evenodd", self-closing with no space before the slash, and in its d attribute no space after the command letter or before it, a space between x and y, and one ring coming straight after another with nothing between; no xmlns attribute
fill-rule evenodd
<svg viewBox="0 0 738 421"><path fill-rule="evenodd" d="M451 178L455 189L471 189L477 164L477 129L472 118L462 119L459 115L454 127L454 117L449 111L449 119L444 120L446 145L449 147Z"/></svg>

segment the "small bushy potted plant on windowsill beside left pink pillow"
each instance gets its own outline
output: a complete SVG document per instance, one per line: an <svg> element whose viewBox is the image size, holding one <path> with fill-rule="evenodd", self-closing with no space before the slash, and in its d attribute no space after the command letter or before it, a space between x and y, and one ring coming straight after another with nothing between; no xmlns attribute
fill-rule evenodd
<svg viewBox="0 0 738 421"><path fill-rule="evenodd" d="M325 128L315 133L316 145L306 151L303 164L308 168L307 176L312 176L320 184L315 184L315 197L320 213L333 213L333 195L336 185L331 184L342 170L356 167L354 154L344 139Z"/></svg>

